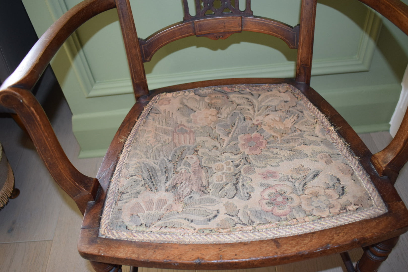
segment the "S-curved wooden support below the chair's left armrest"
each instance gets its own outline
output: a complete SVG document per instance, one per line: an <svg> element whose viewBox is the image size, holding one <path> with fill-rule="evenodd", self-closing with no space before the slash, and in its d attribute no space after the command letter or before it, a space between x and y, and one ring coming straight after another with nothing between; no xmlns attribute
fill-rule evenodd
<svg viewBox="0 0 408 272"><path fill-rule="evenodd" d="M84 213L86 203L95 200L99 181L83 175L71 164L34 95L22 88L3 89L0 104L16 111L51 176Z"/></svg>

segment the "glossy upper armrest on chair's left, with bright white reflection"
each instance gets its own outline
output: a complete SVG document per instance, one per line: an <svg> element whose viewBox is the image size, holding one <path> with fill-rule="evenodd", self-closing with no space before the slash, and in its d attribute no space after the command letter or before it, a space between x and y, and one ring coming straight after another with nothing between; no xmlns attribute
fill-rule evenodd
<svg viewBox="0 0 408 272"><path fill-rule="evenodd" d="M17 86L31 90L58 49L80 25L115 7L114 0L87 0L67 11L45 31L16 70L4 81L1 89Z"/></svg>

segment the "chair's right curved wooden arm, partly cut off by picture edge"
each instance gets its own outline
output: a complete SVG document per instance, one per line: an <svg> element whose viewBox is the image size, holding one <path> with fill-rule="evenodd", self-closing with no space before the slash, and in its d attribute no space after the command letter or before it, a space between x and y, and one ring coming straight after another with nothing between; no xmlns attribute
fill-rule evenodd
<svg viewBox="0 0 408 272"><path fill-rule="evenodd" d="M408 6L399 0L359 0L375 9L408 35ZM402 166L408 161L408 110L390 144L371 158L380 176L395 182Z"/></svg>

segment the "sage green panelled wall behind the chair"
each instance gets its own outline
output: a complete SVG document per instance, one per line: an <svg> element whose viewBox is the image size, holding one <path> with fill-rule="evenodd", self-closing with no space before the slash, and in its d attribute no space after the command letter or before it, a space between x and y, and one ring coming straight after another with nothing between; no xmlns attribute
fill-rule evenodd
<svg viewBox="0 0 408 272"><path fill-rule="evenodd" d="M41 35L80 0L23 0ZM191 1L190 1L191 2ZM405 0L408 2L408 0ZM131 0L140 37L182 20L180 0ZM254 0L254 14L295 25L300 0ZM388 129L408 62L408 38L355 0L319 0L312 86L359 132ZM380 31L381 29L381 31ZM377 46L375 42L378 37ZM145 64L150 88L223 77L289 77L296 50L259 33L227 40L189 37ZM82 157L104 150L134 103L115 10L95 16L52 62L73 113ZM378 110L381 108L381 110Z"/></svg>

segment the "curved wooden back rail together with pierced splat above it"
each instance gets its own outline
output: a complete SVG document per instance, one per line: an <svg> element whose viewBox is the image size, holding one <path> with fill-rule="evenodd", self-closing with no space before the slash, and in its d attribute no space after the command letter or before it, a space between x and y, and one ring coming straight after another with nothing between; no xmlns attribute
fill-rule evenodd
<svg viewBox="0 0 408 272"><path fill-rule="evenodd" d="M165 27L146 39L139 38L143 62L150 61L164 45L193 35L218 40L226 39L233 33L252 31L273 35L284 40L289 48L298 48L299 26L291 27L276 20L253 16L251 0L245 0L244 11L239 9L239 0L195 0L194 16L190 14L187 1L183 0L182 22Z"/></svg>

